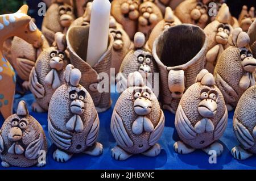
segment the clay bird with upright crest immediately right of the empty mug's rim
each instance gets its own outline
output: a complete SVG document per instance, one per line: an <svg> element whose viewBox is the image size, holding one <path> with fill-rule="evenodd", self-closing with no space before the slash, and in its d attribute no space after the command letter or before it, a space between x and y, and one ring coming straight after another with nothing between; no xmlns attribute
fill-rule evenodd
<svg viewBox="0 0 256 181"><path fill-rule="evenodd" d="M204 28L208 37L205 69L212 74L218 57L228 47L228 37L233 30L229 19L229 7L224 3L216 19Z"/></svg>

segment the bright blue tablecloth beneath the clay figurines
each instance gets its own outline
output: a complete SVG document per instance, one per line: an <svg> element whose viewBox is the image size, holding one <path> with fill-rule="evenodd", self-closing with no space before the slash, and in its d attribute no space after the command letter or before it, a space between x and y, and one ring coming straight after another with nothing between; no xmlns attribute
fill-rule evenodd
<svg viewBox="0 0 256 181"><path fill-rule="evenodd" d="M144 155L134 155L126 161L115 161L110 154L110 150L115 146L114 137L110 132L110 119L118 96L118 93L112 93L112 107L108 111L99 114L100 134L98 141L104 146L103 154L100 157L76 154L68 162L59 163L52 158L52 153L56 147L52 145L48 137L47 113L31 111L31 104L34 102L32 94L26 94L22 97L16 95L14 110L16 110L19 100L25 100L30 114L43 126L48 141L47 165L42 168L30 167L28 169L256 169L255 155L245 161L238 161L230 154L233 146L238 144L232 128L233 111L229 112L228 127L220 139L224 146L224 152L220 157L217 157L216 164L210 164L208 162L209 156L201 150L196 150L187 155L180 155L174 151L173 145L179 138L174 126L175 115L168 111L164 111L166 125L159 141L159 144L162 145L162 151L158 157L151 158ZM0 125L2 123L3 117L0 117ZM3 169L3 167L0 166L0 169ZM10 167L9 169L19 168Z"/></svg>

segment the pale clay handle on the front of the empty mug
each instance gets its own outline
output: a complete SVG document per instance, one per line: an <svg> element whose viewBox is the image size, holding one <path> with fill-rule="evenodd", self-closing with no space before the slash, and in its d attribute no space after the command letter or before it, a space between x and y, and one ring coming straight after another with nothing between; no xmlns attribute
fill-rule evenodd
<svg viewBox="0 0 256 181"><path fill-rule="evenodd" d="M185 91L185 75L183 70L170 70L168 87L173 98L181 98Z"/></svg>

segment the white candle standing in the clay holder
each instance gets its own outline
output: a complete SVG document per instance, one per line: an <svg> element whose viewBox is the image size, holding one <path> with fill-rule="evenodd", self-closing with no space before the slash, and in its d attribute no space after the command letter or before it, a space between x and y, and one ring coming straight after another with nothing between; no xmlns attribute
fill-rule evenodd
<svg viewBox="0 0 256 181"><path fill-rule="evenodd" d="M94 0L92 2L86 57L86 62L90 66L95 65L108 48L110 9L109 0Z"/></svg>

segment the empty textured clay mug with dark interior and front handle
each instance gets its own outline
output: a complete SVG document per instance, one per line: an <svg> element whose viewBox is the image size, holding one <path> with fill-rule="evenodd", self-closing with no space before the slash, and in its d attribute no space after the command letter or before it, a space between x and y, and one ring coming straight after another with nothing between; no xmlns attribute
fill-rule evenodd
<svg viewBox="0 0 256 181"><path fill-rule="evenodd" d="M183 92L204 68L207 36L192 24L169 27L155 40L152 54L158 64L160 102L175 113Z"/></svg>

